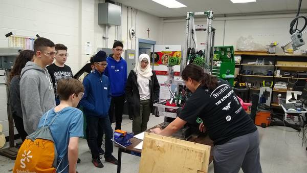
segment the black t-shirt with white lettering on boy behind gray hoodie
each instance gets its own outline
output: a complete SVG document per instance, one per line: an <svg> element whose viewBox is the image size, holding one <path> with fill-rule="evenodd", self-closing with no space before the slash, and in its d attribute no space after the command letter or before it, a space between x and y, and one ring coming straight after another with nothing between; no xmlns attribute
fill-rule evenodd
<svg viewBox="0 0 307 173"><path fill-rule="evenodd" d="M50 66L47 66L46 68L51 76L55 97L58 98L57 91L56 91L57 82L63 78L72 78L73 72L71 68L69 66L66 66L65 64L64 64L64 67L58 67L56 66L55 63L53 63Z"/></svg>

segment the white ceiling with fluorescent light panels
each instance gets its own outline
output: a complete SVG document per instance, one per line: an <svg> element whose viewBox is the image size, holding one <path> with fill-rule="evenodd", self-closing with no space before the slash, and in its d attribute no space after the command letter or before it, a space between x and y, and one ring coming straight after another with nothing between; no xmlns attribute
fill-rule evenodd
<svg viewBox="0 0 307 173"><path fill-rule="evenodd" d="M125 6L147 12L158 17L181 17L187 12L212 10L214 14L243 14L261 12L296 12L298 0L256 0L254 3L233 4L230 0L177 0L184 8L167 8L151 0L113 0ZM167 0L165 0L167 1ZM302 1L301 11L306 12L307 1Z"/></svg>

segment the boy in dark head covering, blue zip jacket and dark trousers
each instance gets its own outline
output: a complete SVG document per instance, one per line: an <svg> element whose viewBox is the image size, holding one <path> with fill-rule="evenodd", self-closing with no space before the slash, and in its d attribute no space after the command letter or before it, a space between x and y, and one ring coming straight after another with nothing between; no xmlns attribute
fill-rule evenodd
<svg viewBox="0 0 307 173"><path fill-rule="evenodd" d="M107 67L106 53L99 51L93 58L95 70L87 75L83 80L84 96L80 104L84 108L86 124L89 129L88 144L92 153L92 162L96 167L103 167L100 161L100 146L97 138L105 133L104 159L117 165L117 159L112 155L113 129L108 116L111 102L111 88L108 77L103 74Z"/></svg>

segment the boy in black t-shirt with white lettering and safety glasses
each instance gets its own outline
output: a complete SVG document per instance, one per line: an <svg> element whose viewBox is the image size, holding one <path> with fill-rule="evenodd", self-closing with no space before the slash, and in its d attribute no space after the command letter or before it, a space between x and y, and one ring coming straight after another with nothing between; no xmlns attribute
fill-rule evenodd
<svg viewBox="0 0 307 173"><path fill-rule="evenodd" d="M68 58L67 47L62 44L56 44L55 50L55 62L50 66L47 66L47 70L51 76L52 84L54 87L55 103L56 105L58 105L60 103L60 100L57 95L57 82L60 79L72 78L73 72L69 66L64 64Z"/></svg>

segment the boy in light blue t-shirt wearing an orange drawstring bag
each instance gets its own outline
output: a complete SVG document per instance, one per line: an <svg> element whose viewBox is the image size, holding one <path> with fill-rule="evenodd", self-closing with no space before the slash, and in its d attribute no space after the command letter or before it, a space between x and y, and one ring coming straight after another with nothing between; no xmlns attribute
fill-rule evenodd
<svg viewBox="0 0 307 173"><path fill-rule="evenodd" d="M67 78L58 81L57 92L60 104L41 117L38 128L44 123L50 124L56 116L50 131L58 154L58 172L76 172L78 140L83 136L83 114L75 107L84 95L84 88L79 80Z"/></svg>

